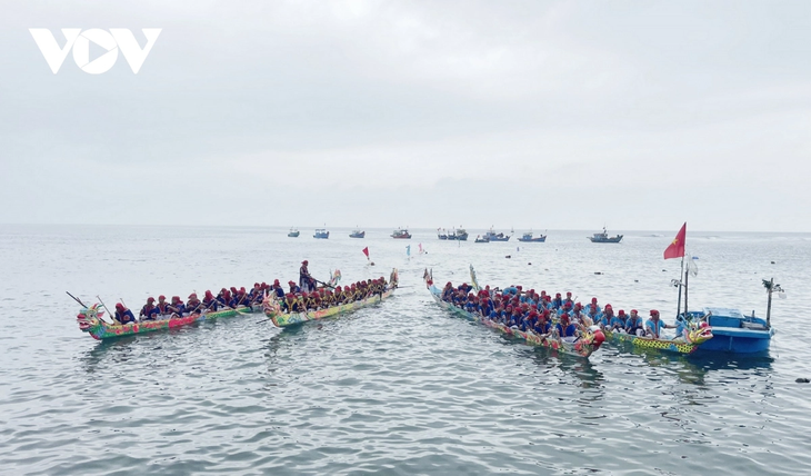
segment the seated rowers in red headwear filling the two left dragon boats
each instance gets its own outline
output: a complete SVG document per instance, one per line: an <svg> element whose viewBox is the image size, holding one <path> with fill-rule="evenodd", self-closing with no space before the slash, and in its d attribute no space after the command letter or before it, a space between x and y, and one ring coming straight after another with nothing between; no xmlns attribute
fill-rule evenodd
<svg viewBox="0 0 811 476"><path fill-rule="evenodd" d="M343 287L336 286L334 288L329 285L317 287L314 281L304 281L301 285L303 287L293 281L288 281L289 289L286 291L279 280L276 279L272 285L254 282L253 288L249 291L246 291L244 287L239 289L236 287L222 288L214 296L213 292L207 290L202 299L198 298L197 292L192 292L186 303L180 299L180 296L172 296L171 301L167 301L166 296L159 296L157 303L153 297L150 297L141 308L138 319L136 319L132 310L121 303L116 305L114 318L119 324L128 324L170 319L223 309L243 308L252 311L253 308L262 306L266 296L278 299L284 313L302 313L362 300L384 292L388 287L386 278L382 277L358 281Z"/></svg>

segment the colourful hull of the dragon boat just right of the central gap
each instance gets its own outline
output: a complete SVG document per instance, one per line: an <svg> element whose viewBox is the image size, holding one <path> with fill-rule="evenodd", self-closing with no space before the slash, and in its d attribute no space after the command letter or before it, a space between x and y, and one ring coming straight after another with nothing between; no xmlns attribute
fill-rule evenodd
<svg viewBox="0 0 811 476"><path fill-rule="evenodd" d="M473 289L478 290L479 285L477 284L472 266L470 268L470 271L473 282ZM432 272L425 270L423 279L425 280L425 287L431 292L431 297L433 298L433 300L437 301L438 305L440 305L440 307L448 309L451 313L461 316L468 320L472 320L473 323L481 324L499 333L523 340L523 343L528 346L547 347L562 354L570 354L588 358L591 354L600 348L600 345L605 339L602 331L599 329L589 331L584 336L579 337L573 341L569 341L567 339L555 338L551 336L540 336L531 330L523 331L518 328L508 327L501 323L497 323L481 315L468 313L464 309L458 308L452 304L442 300L442 291L437 286L434 286Z"/></svg>

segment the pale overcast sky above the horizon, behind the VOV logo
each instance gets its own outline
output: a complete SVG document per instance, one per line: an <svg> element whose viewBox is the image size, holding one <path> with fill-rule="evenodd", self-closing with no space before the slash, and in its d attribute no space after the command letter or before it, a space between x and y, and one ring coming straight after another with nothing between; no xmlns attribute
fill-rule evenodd
<svg viewBox="0 0 811 476"><path fill-rule="evenodd" d="M811 231L809 2L3 3L0 224Z"/></svg>

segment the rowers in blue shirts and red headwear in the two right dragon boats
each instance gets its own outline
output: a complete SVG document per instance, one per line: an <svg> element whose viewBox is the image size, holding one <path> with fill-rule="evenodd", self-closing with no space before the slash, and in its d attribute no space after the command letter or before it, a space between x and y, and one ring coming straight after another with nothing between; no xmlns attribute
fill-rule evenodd
<svg viewBox="0 0 811 476"><path fill-rule="evenodd" d="M677 338L683 338L685 331L683 321L667 325L655 309L651 309L650 318L643 320L637 309L631 309L629 315L623 309L614 314L610 304L601 307L597 298L591 298L591 303L583 306L572 299L571 292L563 298L560 292L552 297L543 290L540 294L534 289L523 291L521 286L492 290L487 286L477 294L472 289L468 284L453 287L448 282L442 289L442 300L507 327L531 330L541 336L577 339L593 326L657 339L664 338L662 330L665 328L675 329Z"/></svg>

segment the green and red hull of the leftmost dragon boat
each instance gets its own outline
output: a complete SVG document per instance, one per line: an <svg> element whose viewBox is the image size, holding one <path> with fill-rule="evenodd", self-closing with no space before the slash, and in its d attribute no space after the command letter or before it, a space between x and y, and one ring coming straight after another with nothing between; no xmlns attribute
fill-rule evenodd
<svg viewBox="0 0 811 476"><path fill-rule="evenodd" d="M101 318L104 315L103 305L94 304L83 307L76 316L79 329L97 340L111 339L116 337L132 336L136 334L152 333L156 330L174 329L188 326L201 320L218 319L222 317L232 317L243 314L253 313L249 307L238 307L237 309L224 309L209 313L197 313L183 317L174 317L169 319L142 320L140 323L129 324L109 324Z"/></svg>

